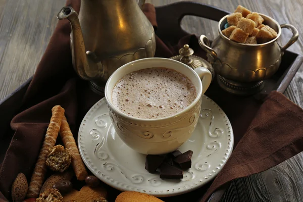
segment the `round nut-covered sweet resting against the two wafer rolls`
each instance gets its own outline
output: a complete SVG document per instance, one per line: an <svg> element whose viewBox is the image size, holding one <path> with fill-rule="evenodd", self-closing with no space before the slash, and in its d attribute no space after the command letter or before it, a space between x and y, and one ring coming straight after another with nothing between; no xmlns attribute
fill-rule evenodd
<svg viewBox="0 0 303 202"><path fill-rule="evenodd" d="M45 161L49 169L57 172L64 172L72 162L72 157L64 146L58 144L49 149L49 154Z"/></svg>

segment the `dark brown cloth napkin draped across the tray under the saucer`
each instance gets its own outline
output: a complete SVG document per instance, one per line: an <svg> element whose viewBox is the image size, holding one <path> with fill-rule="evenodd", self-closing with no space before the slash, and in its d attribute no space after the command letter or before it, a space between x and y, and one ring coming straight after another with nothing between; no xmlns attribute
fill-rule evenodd
<svg viewBox="0 0 303 202"><path fill-rule="evenodd" d="M67 5L76 11L80 9L79 0L67 1ZM146 4L143 11L156 28L155 8ZM88 82L78 78L72 68L70 31L67 20L58 22L23 97L20 113L11 122L12 130L0 134L0 148L7 148L6 154L0 155L0 201L10 198L11 185L18 173L24 173L28 181L31 179L51 118L52 107L61 105L65 109L65 115L77 139L82 118L92 105L102 98L94 94L89 89ZM170 44L168 40L157 37L156 56L168 58L177 55L178 49L185 43L194 49L196 55L205 57L194 35L181 38L177 44ZM226 182L265 171L303 150L303 111L282 94L272 92L257 114L255 109L258 109L261 103L251 103L252 107L248 109L244 105L247 104L247 98L231 96L220 91L216 83L211 85L207 95L214 99L230 118L237 146L208 191L208 186L204 186L181 196L163 198L165 201L188 201L189 198L190 201L206 201L213 191ZM227 98L222 99L222 95ZM237 107L230 107L231 102L237 103ZM236 112L245 110L250 115L245 116L246 120L234 116ZM109 201L114 201L119 191L106 187Z"/></svg>

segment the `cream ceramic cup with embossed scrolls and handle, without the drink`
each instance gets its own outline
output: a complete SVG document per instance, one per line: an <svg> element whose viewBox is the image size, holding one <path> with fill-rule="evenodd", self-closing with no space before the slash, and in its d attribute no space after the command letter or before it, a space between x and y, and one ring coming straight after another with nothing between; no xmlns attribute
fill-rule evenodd
<svg viewBox="0 0 303 202"><path fill-rule="evenodd" d="M117 81L131 72L152 67L173 69L187 76L196 88L194 101L177 114L159 119L136 118L120 112L112 104L112 90ZM181 62L166 58L145 58L123 65L111 75L105 86L106 101L117 134L125 144L141 154L157 155L176 150L195 129L201 109L201 96L211 80L211 72L204 67L192 70Z"/></svg>

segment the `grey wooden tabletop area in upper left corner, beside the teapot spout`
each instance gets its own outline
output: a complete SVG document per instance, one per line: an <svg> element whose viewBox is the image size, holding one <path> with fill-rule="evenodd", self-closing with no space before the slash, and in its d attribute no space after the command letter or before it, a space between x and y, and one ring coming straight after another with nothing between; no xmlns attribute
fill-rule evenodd
<svg viewBox="0 0 303 202"><path fill-rule="evenodd" d="M0 19L0 99L33 75L64 4L63 0L6 2Z"/></svg>

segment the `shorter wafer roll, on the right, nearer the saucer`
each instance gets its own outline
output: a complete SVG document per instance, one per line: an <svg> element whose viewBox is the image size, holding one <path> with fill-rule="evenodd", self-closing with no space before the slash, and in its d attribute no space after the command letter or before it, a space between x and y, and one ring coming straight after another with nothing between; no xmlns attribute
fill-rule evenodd
<svg viewBox="0 0 303 202"><path fill-rule="evenodd" d="M68 149L69 153L72 156L72 166L76 177L78 180L85 180L87 177L87 172L84 166L84 163L80 157L78 147L76 145L74 136L71 132L71 129L67 123L66 117L63 116L61 128L60 128L60 136L63 141L64 146Z"/></svg>

